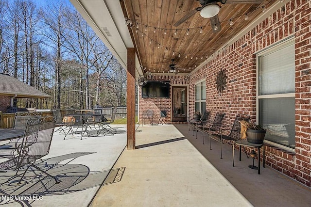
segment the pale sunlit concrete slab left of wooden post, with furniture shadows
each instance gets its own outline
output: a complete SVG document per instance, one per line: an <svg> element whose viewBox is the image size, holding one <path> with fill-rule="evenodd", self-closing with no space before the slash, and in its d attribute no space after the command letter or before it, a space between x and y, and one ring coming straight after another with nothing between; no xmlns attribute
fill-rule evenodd
<svg viewBox="0 0 311 207"><path fill-rule="evenodd" d="M20 206L14 197L24 206L86 207L100 186L119 182L125 170L125 167L112 169L126 144L126 128L117 128L115 135L84 137L83 140L80 134L69 134L69 139L63 140L64 133L55 132L50 153L36 165L61 182L57 184L32 167L21 184L17 184L20 176L8 180L15 172L2 172L0 189L12 197L2 195L0 205Z"/></svg>

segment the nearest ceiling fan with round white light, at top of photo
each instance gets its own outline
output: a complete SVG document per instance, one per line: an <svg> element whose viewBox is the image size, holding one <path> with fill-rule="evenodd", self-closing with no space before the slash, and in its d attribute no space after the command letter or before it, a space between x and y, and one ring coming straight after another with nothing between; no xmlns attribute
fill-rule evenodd
<svg viewBox="0 0 311 207"><path fill-rule="evenodd" d="M209 18L210 25L212 26L212 31L214 33L217 33L221 30L221 25L218 17L218 13L221 7L219 6L218 2L221 2L222 4L225 3L260 4L263 2L263 0L197 0L197 1L199 1L202 6L195 8L194 10L190 11L190 13L188 13L186 16L183 16L174 24L174 27L179 26L181 23L186 21L195 13L200 12L200 15L203 18Z"/></svg>

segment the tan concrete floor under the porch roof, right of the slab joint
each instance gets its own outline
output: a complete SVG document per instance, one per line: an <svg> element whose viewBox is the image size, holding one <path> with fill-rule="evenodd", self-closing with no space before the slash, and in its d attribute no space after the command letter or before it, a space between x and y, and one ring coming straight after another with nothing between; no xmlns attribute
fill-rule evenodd
<svg viewBox="0 0 311 207"><path fill-rule="evenodd" d="M102 186L91 207L311 206L310 188L268 166L258 175L245 155L233 167L229 145L220 159L220 143L209 150L188 125L138 130L137 149L124 150L113 167L125 169L120 182Z"/></svg>

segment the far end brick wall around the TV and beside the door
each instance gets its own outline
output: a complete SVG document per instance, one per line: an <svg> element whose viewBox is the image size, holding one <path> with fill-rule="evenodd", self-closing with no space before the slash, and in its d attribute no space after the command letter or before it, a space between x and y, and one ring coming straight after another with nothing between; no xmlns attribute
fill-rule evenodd
<svg viewBox="0 0 311 207"><path fill-rule="evenodd" d="M172 85L185 85L189 84L188 75L149 75L147 76L148 80L169 80L170 81L170 98L142 98L141 97L141 88L138 89L139 96L139 123L142 123L143 113L148 109L154 111L154 119L157 119L160 116L161 110L167 111L167 118L165 122L171 122L172 117ZM180 93L179 93L180 96ZM180 97L179 97L180 98ZM149 120L145 120L145 123L149 123Z"/></svg>

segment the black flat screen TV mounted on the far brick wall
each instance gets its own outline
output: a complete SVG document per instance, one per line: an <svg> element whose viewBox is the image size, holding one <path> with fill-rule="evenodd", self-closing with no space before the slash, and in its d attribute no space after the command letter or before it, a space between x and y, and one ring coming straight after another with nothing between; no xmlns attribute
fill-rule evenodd
<svg viewBox="0 0 311 207"><path fill-rule="evenodd" d="M148 81L141 88L143 98L169 98L170 82L169 81Z"/></svg>

